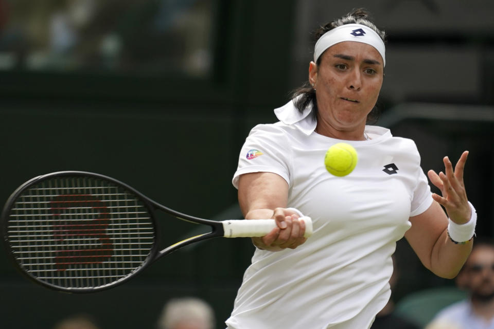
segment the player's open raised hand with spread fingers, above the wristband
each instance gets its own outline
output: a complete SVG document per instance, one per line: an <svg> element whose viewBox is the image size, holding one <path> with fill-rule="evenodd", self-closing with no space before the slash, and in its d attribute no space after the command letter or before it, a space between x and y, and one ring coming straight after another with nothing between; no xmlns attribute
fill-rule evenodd
<svg viewBox="0 0 494 329"><path fill-rule="evenodd" d="M436 174L433 170L429 170L427 173L432 184L441 190L441 194L443 194L443 196L440 196L433 193L432 198L446 209L450 220L456 224L467 223L472 214L463 182L463 172L467 157L468 151L463 152L453 171L451 161L445 156L443 162L446 173L439 172L439 174Z"/></svg>

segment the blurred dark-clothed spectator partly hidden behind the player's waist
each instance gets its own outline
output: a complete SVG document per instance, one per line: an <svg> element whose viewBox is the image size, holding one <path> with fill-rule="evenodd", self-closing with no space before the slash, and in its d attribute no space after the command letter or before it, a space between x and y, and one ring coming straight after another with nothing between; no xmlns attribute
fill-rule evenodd
<svg viewBox="0 0 494 329"><path fill-rule="evenodd" d="M393 275L390 278L390 287L393 293L394 287L399 278L396 259L393 255ZM412 321L397 315L395 312L395 303L393 296L387 302L386 306L376 315L376 319L371 326L371 329L420 329L420 327Z"/></svg>

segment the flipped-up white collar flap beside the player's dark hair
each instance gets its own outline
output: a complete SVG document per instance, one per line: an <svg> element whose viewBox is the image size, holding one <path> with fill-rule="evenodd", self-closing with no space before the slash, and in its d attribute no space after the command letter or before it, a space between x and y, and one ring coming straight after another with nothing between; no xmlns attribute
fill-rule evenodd
<svg viewBox="0 0 494 329"><path fill-rule="evenodd" d="M317 124L313 115L309 115L312 112L312 105L309 104L304 111L298 111L295 107L295 99L290 100L285 105L275 108L274 114L279 121L295 126L298 130L309 136L315 130Z"/></svg>

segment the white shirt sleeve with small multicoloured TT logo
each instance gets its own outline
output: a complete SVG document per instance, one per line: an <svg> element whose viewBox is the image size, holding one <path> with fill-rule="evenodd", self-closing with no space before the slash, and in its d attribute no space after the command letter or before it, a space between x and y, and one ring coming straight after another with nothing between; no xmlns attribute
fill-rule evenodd
<svg viewBox="0 0 494 329"><path fill-rule="evenodd" d="M240 175L254 172L275 173L290 184L289 152L285 130L276 124L255 126L240 151L237 171L232 180L233 185L238 188Z"/></svg>

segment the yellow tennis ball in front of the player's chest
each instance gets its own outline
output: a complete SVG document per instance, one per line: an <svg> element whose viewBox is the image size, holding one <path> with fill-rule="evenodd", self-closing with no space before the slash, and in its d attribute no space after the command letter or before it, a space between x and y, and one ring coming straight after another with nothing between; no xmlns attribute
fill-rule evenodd
<svg viewBox="0 0 494 329"><path fill-rule="evenodd" d="M332 145L324 157L326 169L334 176L343 177L351 173L357 166L357 151L347 143Z"/></svg>

